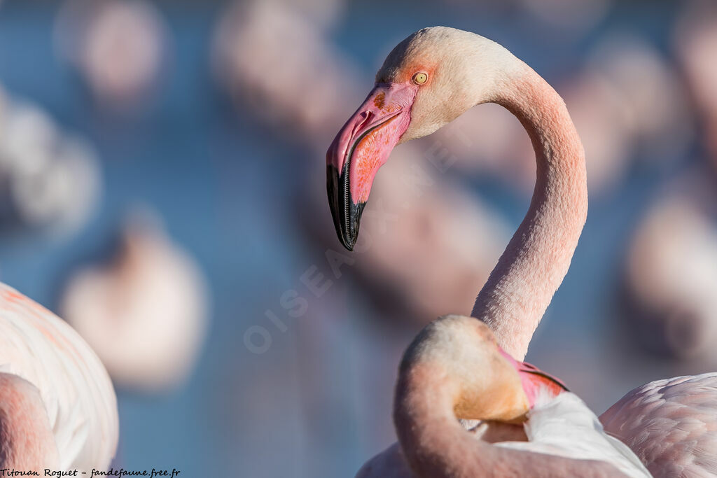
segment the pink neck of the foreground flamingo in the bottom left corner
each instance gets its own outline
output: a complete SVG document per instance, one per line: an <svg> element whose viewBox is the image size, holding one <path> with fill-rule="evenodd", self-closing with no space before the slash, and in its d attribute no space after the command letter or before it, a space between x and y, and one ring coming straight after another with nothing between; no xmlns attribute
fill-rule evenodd
<svg viewBox="0 0 717 478"><path fill-rule="evenodd" d="M18 376L0 373L0 466L42 472L57 469L59 462L39 391Z"/></svg>

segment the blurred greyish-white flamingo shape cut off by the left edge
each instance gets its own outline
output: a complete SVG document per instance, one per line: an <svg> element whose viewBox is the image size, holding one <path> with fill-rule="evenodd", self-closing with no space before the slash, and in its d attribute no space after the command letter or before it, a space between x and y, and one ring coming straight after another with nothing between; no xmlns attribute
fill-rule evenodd
<svg viewBox="0 0 717 478"><path fill-rule="evenodd" d="M14 236L72 234L101 195L96 151L37 105L1 91L0 102L0 229Z"/></svg>

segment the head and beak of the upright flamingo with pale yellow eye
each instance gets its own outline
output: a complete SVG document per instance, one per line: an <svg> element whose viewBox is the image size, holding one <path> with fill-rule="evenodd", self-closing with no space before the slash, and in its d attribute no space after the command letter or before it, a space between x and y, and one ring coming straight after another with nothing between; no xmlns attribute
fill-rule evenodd
<svg viewBox="0 0 717 478"><path fill-rule="evenodd" d="M447 27L419 30L391 51L326 153L328 202L344 247L353 250L371 184L394 146L493 100L501 75L510 73L505 55L489 39Z"/></svg>

